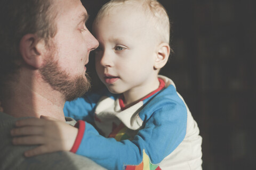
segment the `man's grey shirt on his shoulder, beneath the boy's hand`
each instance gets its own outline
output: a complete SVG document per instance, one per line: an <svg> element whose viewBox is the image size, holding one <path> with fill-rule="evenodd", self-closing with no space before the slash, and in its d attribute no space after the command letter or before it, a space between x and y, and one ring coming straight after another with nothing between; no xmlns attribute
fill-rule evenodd
<svg viewBox="0 0 256 170"><path fill-rule="evenodd" d="M86 157L67 151L25 158L23 152L33 146L13 146L10 136L19 119L0 112L0 169L104 169Z"/></svg>

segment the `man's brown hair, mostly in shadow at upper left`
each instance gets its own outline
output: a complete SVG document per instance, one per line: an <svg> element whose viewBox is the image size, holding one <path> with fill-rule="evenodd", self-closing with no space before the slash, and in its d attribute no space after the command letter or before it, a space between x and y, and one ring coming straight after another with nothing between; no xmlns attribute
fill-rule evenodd
<svg viewBox="0 0 256 170"><path fill-rule="evenodd" d="M23 61L19 51L21 38L33 33L47 44L57 32L52 9L50 0L0 1L0 96Z"/></svg>

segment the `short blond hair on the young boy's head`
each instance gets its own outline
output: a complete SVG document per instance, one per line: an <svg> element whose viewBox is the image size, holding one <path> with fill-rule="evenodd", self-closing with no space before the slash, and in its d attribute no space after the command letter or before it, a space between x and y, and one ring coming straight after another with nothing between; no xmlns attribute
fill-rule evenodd
<svg viewBox="0 0 256 170"><path fill-rule="evenodd" d="M170 21L169 16L162 4L157 0L111 0L105 5L103 5L98 12L94 23L97 23L99 19L106 16L112 8L122 6L124 4L134 4L141 7L145 11L145 14L153 23L157 35L159 35L159 40L161 43L170 43Z"/></svg>

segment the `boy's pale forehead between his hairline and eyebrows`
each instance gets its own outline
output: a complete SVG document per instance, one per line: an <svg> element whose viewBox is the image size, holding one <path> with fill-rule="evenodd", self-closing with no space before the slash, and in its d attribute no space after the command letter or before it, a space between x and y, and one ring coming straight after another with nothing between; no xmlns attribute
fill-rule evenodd
<svg viewBox="0 0 256 170"><path fill-rule="evenodd" d="M127 15L129 12L130 15ZM115 42L151 41L157 36L153 24L145 20L143 13L136 10L131 13L129 9L122 8L103 16L94 28L97 30L97 38L111 37Z"/></svg>

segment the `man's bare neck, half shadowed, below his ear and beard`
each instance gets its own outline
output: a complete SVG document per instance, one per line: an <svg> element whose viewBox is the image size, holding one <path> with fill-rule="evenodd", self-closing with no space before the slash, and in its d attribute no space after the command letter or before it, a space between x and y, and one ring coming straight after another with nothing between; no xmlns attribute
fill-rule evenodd
<svg viewBox="0 0 256 170"><path fill-rule="evenodd" d="M26 75L30 75L27 77ZM41 115L65 121L63 106L65 99L53 90L38 74L20 75L15 86L11 86L10 97L2 101L4 112L14 117L40 117Z"/></svg>

